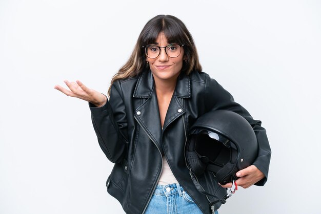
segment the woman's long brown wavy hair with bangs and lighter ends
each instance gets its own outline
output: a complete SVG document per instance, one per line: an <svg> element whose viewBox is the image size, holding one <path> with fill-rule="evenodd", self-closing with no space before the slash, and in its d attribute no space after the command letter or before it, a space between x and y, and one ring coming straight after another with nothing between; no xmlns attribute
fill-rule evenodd
<svg viewBox="0 0 321 214"><path fill-rule="evenodd" d="M118 79L125 79L139 75L148 68L146 63L145 49L143 46L155 44L158 34L164 32L167 42L184 44L184 55L186 61L183 63L181 72L190 74L192 71L202 71L198 61L198 54L194 40L184 23L172 15L157 15L150 19L139 34L135 48L125 65L113 76L108 96L110 96L111 85Z"/></svg>

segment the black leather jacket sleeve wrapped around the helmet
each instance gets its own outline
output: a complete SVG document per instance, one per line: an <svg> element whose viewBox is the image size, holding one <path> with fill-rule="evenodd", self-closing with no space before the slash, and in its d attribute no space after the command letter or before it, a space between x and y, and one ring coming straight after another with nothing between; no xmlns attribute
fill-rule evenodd
<svg viewBox="0 0 321 214"><path fill-rule="evenodd" d="M207 111L229 110L243 116L252 126L258 143L257 158L255 165L264 175L265 178L255 183L257 186L263 186L268 178L269 165L271 159L271 148L269 145L266 130L261 126L261 121L254 120L249 112L242 105L236 103L232 95L226 91L220 84L209 75L206 77L205 99Z"/></svg>

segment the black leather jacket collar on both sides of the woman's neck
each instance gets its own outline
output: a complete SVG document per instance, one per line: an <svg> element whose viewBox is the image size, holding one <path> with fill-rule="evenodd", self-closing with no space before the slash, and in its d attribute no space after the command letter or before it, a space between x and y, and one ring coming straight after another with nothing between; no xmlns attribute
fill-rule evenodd
<svg viewBox="0 0 321 214"><path fill-rule="evenodd" d="M148 69L143 71L138 77L133 97L148 98L152 94L153 89L154 78L152 72ZM185 72L181 72L177 78L175 95L181 98L191 97L190 78Z"/></svg>

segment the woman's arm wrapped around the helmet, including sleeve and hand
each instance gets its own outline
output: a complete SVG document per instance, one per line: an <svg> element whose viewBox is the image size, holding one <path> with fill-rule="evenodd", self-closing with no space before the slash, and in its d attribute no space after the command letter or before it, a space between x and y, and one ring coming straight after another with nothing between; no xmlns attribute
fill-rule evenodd
<svg viewBox="0 0 321 214"><path fill-rule="evenodd" d="M253 165L238 172L237 176L242 177L242 179L239 179L237 184L244 188L247 188L252 184L263 186L268 178L271 148L266 135L266 130L261 126L262 122L254 120L242 105L234 101L229 92L208 75L205 87L205 100L207 111L233 111L243 116L251 124L258 143L257 158L253 162ZM229 183L224 185L224 187L230 187L231 185L232 184Z"/></svg>

